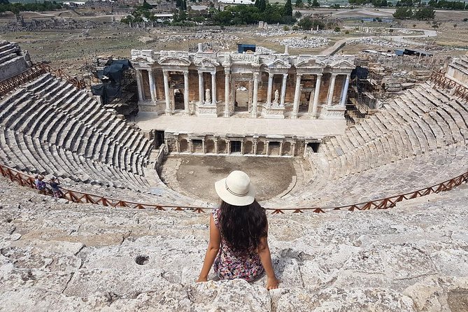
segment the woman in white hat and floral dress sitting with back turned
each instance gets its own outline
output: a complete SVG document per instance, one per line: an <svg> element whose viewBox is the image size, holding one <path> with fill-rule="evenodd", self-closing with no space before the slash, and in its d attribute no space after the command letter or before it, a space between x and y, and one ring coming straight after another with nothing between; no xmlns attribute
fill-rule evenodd
<svg viewBox="0 0 468 312"><path fill-rule="evenodd" d="M267 274L267 289L276 289L268 246L268 221L255 200L255 187L243 171L232 171L215 183L222 199L210 216L210 240L197 282L205 282L213 266L222 280L243 278L251 282Z"/></svg>

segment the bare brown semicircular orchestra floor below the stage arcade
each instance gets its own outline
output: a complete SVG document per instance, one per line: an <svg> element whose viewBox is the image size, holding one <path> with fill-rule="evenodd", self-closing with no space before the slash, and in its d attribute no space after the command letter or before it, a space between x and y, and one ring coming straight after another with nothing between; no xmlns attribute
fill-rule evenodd
<svg viewBox="0 0 468 312"><path fill-rule="evenodd" d="M176 173L179 191L213 203L220 201L214 183L234 170L244 171L250 176L257 189L258 201L281 194L296 176L292 158L179 155L169 158L171 163L174 159L180 161ZM171 183L168 185L171 187Z"/></svg>

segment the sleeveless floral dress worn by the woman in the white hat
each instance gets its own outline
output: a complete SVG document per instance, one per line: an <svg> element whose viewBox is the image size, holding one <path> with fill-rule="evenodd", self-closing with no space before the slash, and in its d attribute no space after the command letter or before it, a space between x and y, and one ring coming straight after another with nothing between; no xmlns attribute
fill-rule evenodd
<svg viewBox="0 0 468 312"><path fill-rule="evenodd" d="M221 210L213 210L213 219L216 227L220 229L219 218ZM264 269L256 248L249 248L246 252L234 252L221 236L221 246L215 258L214 270L220 279L231 280L243 278L250 282L260 276Z"/></svg>

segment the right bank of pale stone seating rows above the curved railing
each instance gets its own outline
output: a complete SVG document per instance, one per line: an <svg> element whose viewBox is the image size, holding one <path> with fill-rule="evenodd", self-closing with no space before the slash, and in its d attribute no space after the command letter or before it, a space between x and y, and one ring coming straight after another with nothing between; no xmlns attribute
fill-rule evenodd
<svg viewBox="0 0 468 312"><path fill-rule="evenodd" d="M465 173L468 104L430 84L309 151L304 185L266 206L340 206L411 192Z"/></svg>

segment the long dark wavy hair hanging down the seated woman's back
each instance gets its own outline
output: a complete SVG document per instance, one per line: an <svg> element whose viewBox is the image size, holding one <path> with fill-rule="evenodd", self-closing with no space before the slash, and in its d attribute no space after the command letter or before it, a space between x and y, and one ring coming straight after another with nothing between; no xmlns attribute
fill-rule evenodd
<svg viewBox="0 0 468 312"><path fill-rule="evenodd" d="M267 236L267 214L256 200L248 206L222 201L220 211L220 232L232 250L257 248L260 239Z"/></svg>

